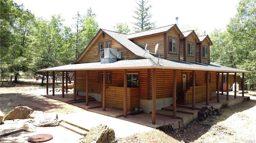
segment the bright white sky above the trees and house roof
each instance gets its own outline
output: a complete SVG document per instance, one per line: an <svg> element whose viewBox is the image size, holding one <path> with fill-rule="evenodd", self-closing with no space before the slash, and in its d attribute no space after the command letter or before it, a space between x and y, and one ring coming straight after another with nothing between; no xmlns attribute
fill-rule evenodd
<svg viewBox="0 0 256 143"><path fill-rule="evenodd" d="M73 17L79 11L86 14L88 8L96 14L96 21L101 29L114 30L116 23L126 23L133 33L136 19L134 11L138 0L14 0L23 4L36 17L50 20L54 14L60 14L66 26L75 24ZM230 18L236 15L239 0L149 0L152 5L149 13L150 22L156 27L176 24L178 27L199 29L201 33L212 33L214 29L226 29ZM185 30L185 29L184 29Z"/></svg>

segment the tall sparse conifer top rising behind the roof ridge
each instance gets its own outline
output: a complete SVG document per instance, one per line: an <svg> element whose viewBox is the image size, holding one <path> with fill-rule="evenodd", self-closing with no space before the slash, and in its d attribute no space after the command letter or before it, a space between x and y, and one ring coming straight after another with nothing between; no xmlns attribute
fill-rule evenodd
<svg viewBox="0 0 256 143"><path fill-rule="evenodd" d="M149 10L152 5L147 6L148 0L140 0L139 3L136 3L138 4L136 11L134 11L136 16L132 16L138 20L138 22L133 23L136 26L134 27L135 32L145 31L156 27L154 22L150 22L152 15L149 13Z"/></svg>

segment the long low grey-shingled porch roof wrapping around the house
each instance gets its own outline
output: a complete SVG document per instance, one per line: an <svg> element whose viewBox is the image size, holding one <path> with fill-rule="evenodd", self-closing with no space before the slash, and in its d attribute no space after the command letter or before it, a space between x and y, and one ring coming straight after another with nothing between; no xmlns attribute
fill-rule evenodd
<svg viewBox="0 0 256 143"><path fill-rule="evenodd" d="M159 62L158 62L159 61ZM45 71L84 71L84 70L114 70L114 69L178 69L178 70L195 70L195 71L218 71L218 72L250 72L241 69L224 67L215 63L189 63L184 61L169 61L166 59L148 58L135 60L120 60L114 63L81 63L70 64L48 69Z"/></svg>

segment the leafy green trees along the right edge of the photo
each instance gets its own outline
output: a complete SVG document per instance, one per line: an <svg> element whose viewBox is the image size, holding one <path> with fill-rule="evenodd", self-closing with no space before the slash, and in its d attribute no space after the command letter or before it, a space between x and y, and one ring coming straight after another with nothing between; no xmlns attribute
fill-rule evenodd
<svg viewBox="0 0 256 143"><path fill-rule="evenodd" d="M256 87L256 0L241 0L227 30L215 30L210 38L211 61L252 71L246 74L248 88Z"/></svg>

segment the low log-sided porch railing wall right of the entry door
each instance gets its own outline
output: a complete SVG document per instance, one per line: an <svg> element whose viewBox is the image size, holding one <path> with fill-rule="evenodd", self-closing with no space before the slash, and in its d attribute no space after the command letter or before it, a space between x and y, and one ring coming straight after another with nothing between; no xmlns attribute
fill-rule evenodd
<svg viewBox="0 0 256 143"><path fill-rule="evenodd" d="M196 95L195 95L195 102L204 102L206 101L206 86L196 86ZM186 105L192 104L192 91L193 88L190 87L189 90L186 91L185 96L186 96ZM212 90L209 89L209 99L212 99Z"/></svg>

